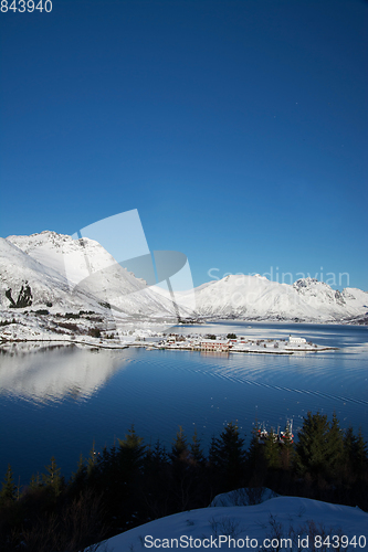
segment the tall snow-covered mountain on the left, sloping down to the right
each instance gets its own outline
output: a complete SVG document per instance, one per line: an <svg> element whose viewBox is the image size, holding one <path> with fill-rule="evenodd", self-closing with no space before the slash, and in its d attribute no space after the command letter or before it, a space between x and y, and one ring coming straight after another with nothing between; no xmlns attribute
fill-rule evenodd
<svg viewBox="0 0 368 552"><path fill-rule="evenodd" d="M17 302L22 286L30 287L32 306L53 310L94 310L111 305L123 315L175 317L170 297L122 267L94 240L73 240L55 232L9 236L0 242L0 305ZM9 294L8 294L9 295Z"/></svg>

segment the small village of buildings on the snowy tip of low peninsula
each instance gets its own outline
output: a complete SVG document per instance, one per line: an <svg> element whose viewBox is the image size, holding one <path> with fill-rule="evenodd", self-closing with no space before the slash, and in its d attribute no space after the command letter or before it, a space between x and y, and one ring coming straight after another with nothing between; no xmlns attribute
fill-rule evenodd
<svg viewBox="0 0 368 552"><path fill-rule="evenodd" d="M249 339L229 333L224 336L181 336L170 333L158 343L149 343L147 349L171 349L215 353L261 353L294 354L295 352L319 352L334 347L317 346L305 338L288 336L288 339Z"/></svg>

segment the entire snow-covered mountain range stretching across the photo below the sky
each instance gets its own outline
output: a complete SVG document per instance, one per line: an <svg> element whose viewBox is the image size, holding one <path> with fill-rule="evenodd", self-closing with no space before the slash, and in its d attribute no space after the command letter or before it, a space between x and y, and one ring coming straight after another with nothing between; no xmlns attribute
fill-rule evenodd
<svg viewBox="0 0 368 552"><path fill-rule="evenodd" d="M227 276L175 294L148 286L120 266L97 242L55 232L0 238L0 308L51 312L112 307L120 316L157 319L246 319L360 322L368 293L332 289L315 278L293 285L256 276Z"/></svg>

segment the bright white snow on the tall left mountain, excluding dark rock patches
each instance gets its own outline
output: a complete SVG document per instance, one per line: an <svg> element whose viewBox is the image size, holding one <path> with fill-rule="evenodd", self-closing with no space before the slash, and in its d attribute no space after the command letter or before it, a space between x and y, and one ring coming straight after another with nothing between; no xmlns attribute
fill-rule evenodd
<svg viewBox="0 0 368 552"><path fill-rule="evenodd" d="M38 262L39 280L42 274L52 274L63 283L65 290L70 290L71 297L93 297L95 304L109 304L125 315L158 317L175 316L175 307L170 298L156 294L146 282L136 278L134 274L122 267L114 257L94 240L86 237L73 240L71 236L56 234L55 232L41 232L31 236L9 236L6 241L9 245L17 246L23 252L23 264L29 261ZM24 255L25 254L25 255ZM0 252L0 278L2 289L13 282L14 270L9 268L9 259L6 248ZM19 264L22 264L19 257ZM27 277L24 270L20 269L18 287ZM36 286L38 278L32 278L31 289ZM39 282L39 284L40 284ZM41 285L41 284L40 284ZM32 287L33 286L33 287ZM10 286L11 287L11 286ZM59 284L55 289L59 288ZM43 302L55 302L54 293L48 289L43 295ZM2 305L9 306L9 301L2 296ZM49 299L46 300L46 297ZM56 301L57 302L57 301ZM39 295L34 295L34 305L40 305ZM90 301L75 308L91 308ZM101 305L99 305L101 310Z"/></svg>

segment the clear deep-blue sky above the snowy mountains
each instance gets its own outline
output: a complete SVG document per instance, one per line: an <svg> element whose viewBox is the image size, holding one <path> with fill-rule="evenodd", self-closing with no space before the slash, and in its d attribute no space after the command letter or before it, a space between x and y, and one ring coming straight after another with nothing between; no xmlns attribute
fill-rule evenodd
<svg viewBox="0 0 368 552"><path fill-rule="evenodd" d="M196 286L212 268L368 290L367 22L360 0L0 13L0 235L138 209Z"/></svg>

